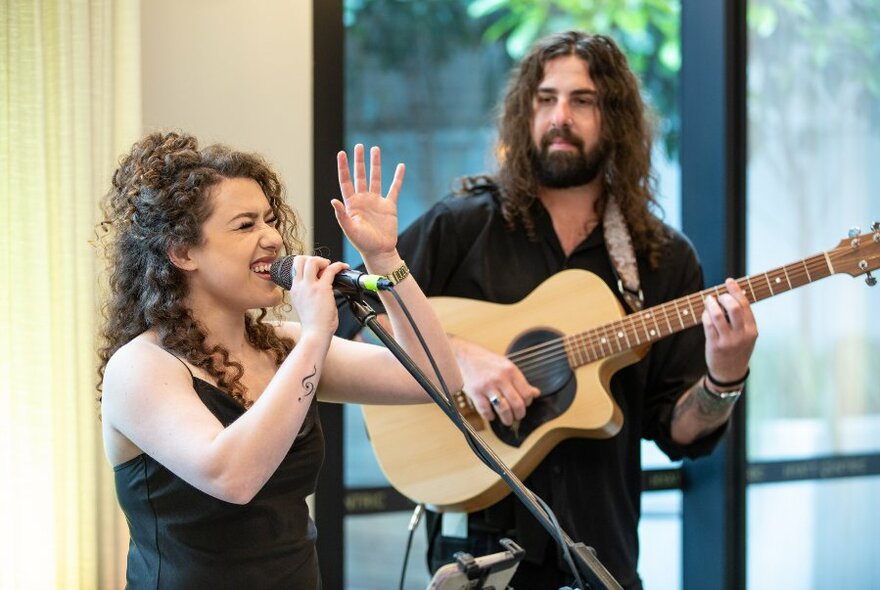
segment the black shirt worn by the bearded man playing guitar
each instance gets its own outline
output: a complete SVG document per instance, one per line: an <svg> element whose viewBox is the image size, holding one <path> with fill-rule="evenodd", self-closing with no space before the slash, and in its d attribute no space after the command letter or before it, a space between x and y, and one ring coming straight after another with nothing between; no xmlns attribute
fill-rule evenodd
<svg viewBox="0 0 880 590"><path fill-rule="evenodd" d="M549 214L533 207L537 241L517 226L510 230L491 193L448 198L434 205L400 236L398 251L431 296L457 296L514 303L548 277L565 269L589 270L616 293L614 270L601 226L569 256L562 250ZM652 269L638 260L645 307L699 291L702 271L690 242L672 228L662 261ZM343 314L342 330L351 333ZM613 321L617 318L608 318ZM465 338L466 335L457 336ZM554 448L526 479L526 485L556 512L575 541L596 549L600 561L625 588L638 588L638 520L641 495L641 439L654 440L672 459L705 454L723 429L682 447L670 437L678 397L705 373L701 328L654 344L645 358L611 380L611 394L624 416L610 439L569 439ZM469 517L472 531L512 532L526 560L555 561L543 527L512 496ZM496 548L495 550L498 550ZM451 556L446 556L451 560ZM514 578L514 581L516 578Z"/></svg>

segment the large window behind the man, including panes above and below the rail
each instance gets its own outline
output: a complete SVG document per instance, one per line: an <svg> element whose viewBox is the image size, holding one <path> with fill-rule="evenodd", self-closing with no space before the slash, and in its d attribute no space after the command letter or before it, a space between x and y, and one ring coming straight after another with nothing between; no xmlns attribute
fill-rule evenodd
<svg viewBox="0 0 880 590"><path fill-rule="evenodd" d="M601 3L601 10L588 4L572 12L564 0L346 0L346 144L381 146L386 168L406 163L401 228L449 194L456 178L494 168L495 107L511 66L533 40L568 28L612 35L641 76L657 113L655 167L663 213L680 226L679 2L617 0ZM346 260L358 262L356 253L346 250ZM344 411L345 486L355 492L350 498L367 497L357 490L388 484L359 408ZM645 445L643 462L671 467L654 445ZM670 551L680 554L681 493L648 494L643 512L642 574L652 588L677 588L679 561ZM396 581L407 522L402 512L346 518L347 588L384 588ZM421 590L428 581L424 537L418 530L407 588Z"/></svg>

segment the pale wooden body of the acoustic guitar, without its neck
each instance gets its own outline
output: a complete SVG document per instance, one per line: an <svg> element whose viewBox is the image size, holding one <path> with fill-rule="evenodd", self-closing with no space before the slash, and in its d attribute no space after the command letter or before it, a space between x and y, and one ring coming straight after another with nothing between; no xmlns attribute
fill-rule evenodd
<svg viewBox="0 0 880 590"><path fill-rule="evenodd" d="M583 270L558 273L510 305L455 297L435 297L430 302L448 334L502 355L510 352L512 343L536 330L565 336L624 315L602 279ZM528 476L566 438L614 436L623 416L607 393L611 376L646 351L643 346L572 369L573 399L559 416L536 425L518 444L504 442L476 415L479 435L520 478ZM542 388L542 396L545 393ZM435 404L364 406L363 411L382 470L408 498L439 511L472 512L509 493Z"/></svg>

